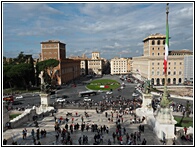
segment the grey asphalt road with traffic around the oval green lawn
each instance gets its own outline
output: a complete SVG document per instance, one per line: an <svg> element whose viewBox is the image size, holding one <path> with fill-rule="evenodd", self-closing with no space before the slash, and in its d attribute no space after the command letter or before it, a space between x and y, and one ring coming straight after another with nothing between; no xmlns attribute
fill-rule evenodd
<svg viewBox="0 0 196 148"><path fill-rule="evenodd" d="M118 82L122 83L124 82L125 83L125 88L121 91L118 91L117 89L116 90L113 90L113 96L115 99L115 96L118 96L118 95L121 95L123 96L125 99L131 99L132 98L132 93L134 92L135 90L135 86L137 84L134 84L134 83L128 83L126 81L121 81L119 79L119 76L111 76L111 75L104 75L101 79L113 79L113 80L117 80ZM68 85L68 86L63 86L62 89L60 90L57 90L56 91L56 96L58 97L61 97L62 95L67 95L69 96L69 98L67 98L68 101L75 101L75 102L83 102L83 98L80 98L78 97L78 93L80 91L85 91L87 90L87 88L85 87L85 85L82 84L82 82L78 83L76 87L72 87L71 84ZM106 95L105 92L103 93L99 93L95 96L90 96L90 98L92 100L94 100L94 102L99 102L99 101L102 101L103 100L103 96ZM32 94L23 94L24 98L23 99L18 99L17 101L20 101L22 102L23 104L22 105L13 105L13 108L16 108L16 107L21 107L21 106L33 106L33 105L40 105L41 103L41 99L39 96L32 96ZM155 97L158 97L158 96L155 96ZM171 98L171 100L173 100L174 102L176 103L179 103L179 104L186 104L186 101L187 100L183 100L183 99L178 99L178 98ZM51 100L52 102L55 101L55 99L52 99ZM193 106L193 101L189 101L191 106Z"/></svg>

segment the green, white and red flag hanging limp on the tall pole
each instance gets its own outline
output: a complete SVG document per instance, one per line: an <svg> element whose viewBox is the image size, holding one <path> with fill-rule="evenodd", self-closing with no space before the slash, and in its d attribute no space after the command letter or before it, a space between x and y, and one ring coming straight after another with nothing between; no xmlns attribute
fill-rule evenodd
<svg viewBox="0 0 196 148"><path fill-rule="evenodd" d="M165 58L164 58L164 73L167 73L167 57L169 50L169 25L168 21L166 23L166 43L165 43Z"/></svg>

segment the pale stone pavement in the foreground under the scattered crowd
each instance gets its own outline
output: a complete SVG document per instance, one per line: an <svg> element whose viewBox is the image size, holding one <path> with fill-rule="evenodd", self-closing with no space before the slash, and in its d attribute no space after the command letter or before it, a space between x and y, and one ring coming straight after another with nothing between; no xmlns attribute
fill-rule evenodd
<svg viewBox="0 0 196 148"><path fill-rule="evenodd" d="M57 118L62 116L63 118L66 117L67 112L72 112L75 115L75 112L78 112L78 116L74 116L74 123L81 124L81 115L84 116L85 110L77 110L77 109L59 109L59 111L55 114ZM108 122L107 118L105 117L105 112L97 114L95 110L86 110L86 112L90 115L90 117L86 118L84 116L84 122L92 124L93 122L100 125L106 125L109 127L109 134L104 133L103 136L103 144L101 145L107 145L108 139L112 141L112 145L119 145L118 143L113 143L112 133L116 130L116 119L114 118L114 122ZM107 111L110 113L110 111ZM115 116L114 116L115 117ZM138 131L139 124L130 124L130 118L131 115L124 115L124 122L122 123L122 126L126 128L126 132L134 133ZM71 123L71 117L69 117L68 124ZM56 132L54 130L54 116L48 116L44 117L43 119L38 121L39 128L45 129L47 131L47 135L45 138L41 138L39 141L42 145L62 145L60 140L56 142L55 135ZM153 133L152 129L148 127L148 125L144 125L144 132L141 133L141 140L143 138L146 139L147 144L146 145L162 145L161 141L157 138L157 136ZM64 128L65 124L61 124L60 127ZM22 139L22 130L26 128L27 129L27 138L25 140ZM9 129L3 133L3 138L8 139L8 144L12 144L13 140L17 141L19 145L33 145L33 140L31 136L31 130L36 130L36 127L34 127L33 122L27 122L21 127L15 128L15 129ZM88 145L93 145L94 143L94 135L95 132L92 131L86 131L82 132L80 129L78 131L74 131L73 134L71 134L71 138L73 141L73 145L78 145L78 139L80 136L87 135L88 136ZM60 139L60 138L59 138ZM123 141L126 141L126 136L123 136ZM124 143L125 144L125 143ZM137 145L141 144L141 142L137 142ZM167 145L171 145L172 141L169 139L166 143ZM179 140L176 141L176 145L192 145L190 142L181 142Z"/></svg>

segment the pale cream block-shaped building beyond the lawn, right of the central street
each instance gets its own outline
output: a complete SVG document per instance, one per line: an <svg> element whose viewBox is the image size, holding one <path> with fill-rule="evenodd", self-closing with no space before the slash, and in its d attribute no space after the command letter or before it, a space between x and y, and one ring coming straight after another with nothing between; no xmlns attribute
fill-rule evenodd
<svg viewBox="0 0 196 148"><path fill-rule="evenodd" d="M110 61L111 74L129 74L131 72L131 58L115 57Z"/></svg>

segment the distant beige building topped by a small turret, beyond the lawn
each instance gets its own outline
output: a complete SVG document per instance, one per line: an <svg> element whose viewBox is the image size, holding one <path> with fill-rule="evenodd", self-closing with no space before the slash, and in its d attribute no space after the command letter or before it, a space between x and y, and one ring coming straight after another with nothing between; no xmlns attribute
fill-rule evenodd
<svg viewBox="0 0 196 148"><path fill-rule="evenodd" d="M88 74L102 75L104 60L100 58L99 52L92 52L92 58L88 60Z"/></svg>

